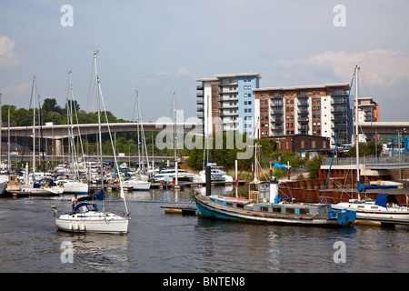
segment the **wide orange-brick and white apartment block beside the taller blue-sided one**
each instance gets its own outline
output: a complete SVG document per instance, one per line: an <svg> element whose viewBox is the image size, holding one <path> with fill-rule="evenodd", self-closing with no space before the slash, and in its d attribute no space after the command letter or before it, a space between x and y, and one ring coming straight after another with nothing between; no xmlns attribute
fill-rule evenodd
<svg viewBox="0 0 409 291"><path fill-rule="evenodd" d="M329 137L334 146L344 115L338 145L351 143L354 112L346 105L349 90L346 83L255 88L260 137L317 135Z"/></svg>

